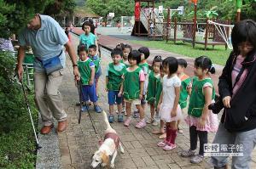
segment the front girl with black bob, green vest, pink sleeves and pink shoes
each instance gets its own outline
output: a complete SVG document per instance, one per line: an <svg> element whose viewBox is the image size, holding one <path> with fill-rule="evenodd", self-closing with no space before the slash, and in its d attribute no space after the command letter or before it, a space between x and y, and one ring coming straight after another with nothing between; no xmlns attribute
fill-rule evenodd
<svg viewBox="0 0 256 169"><path fill-rule="evenodd" d="M140 113L140 121L137 122L137 128L146 126L144 119L144 111L141 105L143 99L143 85L145 75L143 70L138 66L141 61L141 53L137 50L132 50L128 55L130 67L126 68L125 79L123 82L123 93L126 103L127 118L124 122L125 127L129 127L131 122L131 104L135 104Z"/></svg>

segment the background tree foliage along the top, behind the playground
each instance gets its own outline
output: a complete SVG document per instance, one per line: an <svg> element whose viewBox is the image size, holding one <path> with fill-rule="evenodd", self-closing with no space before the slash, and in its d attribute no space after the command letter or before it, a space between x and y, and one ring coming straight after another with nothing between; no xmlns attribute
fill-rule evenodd
<svg viewBox="0 0 256 169"><path fill-rule="evenodd" d="M194 3L191 0L156 0L155 8L163 5L164 8L177 8L184 6L183 18L189 18L188 14L194 10ZM87 0L86 7L91 8L96 14L107 17L108 13L114 13L115 17L122 15L133 15L133 0ZM142 3L142 6L147 3ZM215 14L215 17L223 20L236 19L236 0L198 0L197 8L200 14ZM243 0L241 8L241 20L256 18L256 0ZM217 16L218 14L218 16ZM212 16L212 15L211 15Z"/></svg>

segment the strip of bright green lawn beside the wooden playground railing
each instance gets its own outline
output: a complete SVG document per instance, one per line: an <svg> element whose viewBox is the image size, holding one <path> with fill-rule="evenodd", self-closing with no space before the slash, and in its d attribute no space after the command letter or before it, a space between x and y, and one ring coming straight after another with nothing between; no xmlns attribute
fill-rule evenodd
<svg viewBox="0 0 256 169"><path fill-rule="evenodd" d="M225 50L224 46L215 46L212 49L212 46L208 46L207 50L204 50L204 46L200 44L195 44L195 48L192 48L191 43L179 42L174 44L173 42L166 41L131 41L143 45L148 48L157 48L162 49L174 54L181 54L190 58L196 58L201 55L208 56L213 64L225 65L226 60L228 59L231 50Z"/></svg>

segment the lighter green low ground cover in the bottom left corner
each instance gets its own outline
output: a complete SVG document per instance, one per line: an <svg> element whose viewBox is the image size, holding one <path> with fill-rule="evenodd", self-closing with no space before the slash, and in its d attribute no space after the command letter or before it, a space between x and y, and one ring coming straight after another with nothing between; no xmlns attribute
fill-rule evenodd
<svg viewBox="0 0 256 169"><path fill-rule="evenodd" d="M30 96L30 104L32 110L32 118L34 124L38 125L38 112L35 109L33 97ZM24 111L20 107L20 111ZM27 111L27 110L25 110ZM35 152L35 138L32 132L32 123L28 113L16 117L12 123L11 131L0 133L0 168L15 169L35 168L37 155Z"/></svg>

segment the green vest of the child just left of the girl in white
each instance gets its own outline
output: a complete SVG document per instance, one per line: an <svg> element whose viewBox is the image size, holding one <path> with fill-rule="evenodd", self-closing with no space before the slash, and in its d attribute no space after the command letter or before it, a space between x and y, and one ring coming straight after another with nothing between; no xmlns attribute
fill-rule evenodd
<svg viewBox="0 0 256 169"><path fill-rule="evenodd" d="M155 94L156 94L156 82L157 79L160 78L160 75L154 75L154 71L151 71L148 76L148 93L147 93L147 101L149 104L154 104Z"/></svg>

